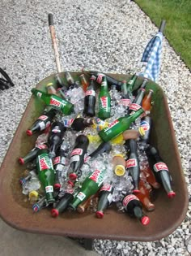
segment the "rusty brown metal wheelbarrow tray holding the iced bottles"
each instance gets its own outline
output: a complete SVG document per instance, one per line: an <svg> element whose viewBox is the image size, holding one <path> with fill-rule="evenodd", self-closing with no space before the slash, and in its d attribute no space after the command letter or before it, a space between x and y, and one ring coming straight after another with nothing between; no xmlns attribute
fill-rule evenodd
<svg viewBox="0 0 191 256"><path fill-rule="evenodd" d="M64 73L61 74L64 76ZM73 73L73 75L76 76L79 73ZM117 80L129 78L128 75L109 75ZM135 87L142 84L142 79L142 77L138 77ZM54 82L54 75L46 77L36 87L45 89L45 84L50 81ZM106 210L104 219L96 219L94 214L89 213L80 215L68 212L53 219L50 216L50 209L41 210L36 214L32 212L32 206L25 202L19 185L18 180L23 174L24 167L19 165L17 158L32 150L36 141L37 135L28 137L25 133L44 108L41 102L33 97L28 102L0 169L0 215L2 219L11 227L25 232L87 239L157 241L175 231L185 219L188 208L188 192L167 99L163 89L150 81L146 85L146 90L151 88L154 89L155 101L151 112L154 123L151 144L159 149L163 161L168 164L176 197L170 200L163 189L159 190L155 200L155 211L148 213L151 218L148 226L143 227L136 219L118 213L114 207Z"/></svg>

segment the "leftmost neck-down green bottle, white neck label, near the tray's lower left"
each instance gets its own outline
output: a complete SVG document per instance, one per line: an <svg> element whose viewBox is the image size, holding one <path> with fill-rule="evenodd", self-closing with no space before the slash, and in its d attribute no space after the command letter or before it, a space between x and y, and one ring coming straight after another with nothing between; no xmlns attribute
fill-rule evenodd
<svg viewBox="0 0 191 256"><path fill-rule="evenodd" d="M36 168L40 183L45 189L45 196L49 204L55 201L53 197L53 184L55 174L53 170L53 163L49 158L48 150L39 150L36 158Z"/></svg>

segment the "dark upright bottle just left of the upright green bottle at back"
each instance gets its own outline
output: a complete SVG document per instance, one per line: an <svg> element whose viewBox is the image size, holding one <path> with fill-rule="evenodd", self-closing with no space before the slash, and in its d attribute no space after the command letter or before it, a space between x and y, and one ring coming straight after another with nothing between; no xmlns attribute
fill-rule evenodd
<svg viewBox="0 0 191 256"><path fill-rule="evenodd" d="M85 97L84 97L84 108L83 115L95 116L95 106L96 106L96 88L94 85L94 80L90 79L90 85L87 87Z"/></svg>

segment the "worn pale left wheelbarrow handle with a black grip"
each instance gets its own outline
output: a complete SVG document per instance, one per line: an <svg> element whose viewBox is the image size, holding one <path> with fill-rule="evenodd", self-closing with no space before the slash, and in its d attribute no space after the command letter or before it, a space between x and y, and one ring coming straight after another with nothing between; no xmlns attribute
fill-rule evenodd
<svg viewBox="0 0 191 256"><path fill-rule="evenodd" d="M61 72L61 64L60 64L60 60L59 60L59 53L57 50L57 38L56 38L56 33L54 30L54 26L53 26L53 15L51 13L49 13L49 30L50 30L50 35L52 38L52 43L53 43L53 53L54 53L54 57L56 60L56 65L57 65L57 73Z"/></svg>

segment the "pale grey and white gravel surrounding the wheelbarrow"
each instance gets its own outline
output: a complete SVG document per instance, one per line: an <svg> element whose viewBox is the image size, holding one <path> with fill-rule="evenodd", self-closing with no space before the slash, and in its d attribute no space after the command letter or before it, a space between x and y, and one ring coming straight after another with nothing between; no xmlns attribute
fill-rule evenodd
<svg viewBox="0 0 191 256"><path fill-rule="evenodd" d="M143 50L158 31L130 1L2 0L0 5L1 67L15 83L13 89L0 91L0 163L31 97L30 90L56 71L48 13L54 17L62 71L79 71L85 66L102 72L141 72ZM190 72L165 38L159 85L168 98L190 197ZM189 255L190 214L189 204L184 222L161 241L95 240L94 249L101 255Z"/></svg>

